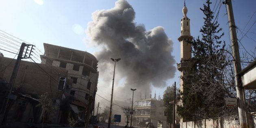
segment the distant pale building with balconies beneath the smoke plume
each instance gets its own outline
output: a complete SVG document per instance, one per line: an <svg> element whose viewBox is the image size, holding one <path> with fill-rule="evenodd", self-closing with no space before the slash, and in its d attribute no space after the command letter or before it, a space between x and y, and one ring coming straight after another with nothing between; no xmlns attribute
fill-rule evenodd
<svg viewBox="0 0 256 128"><path fill-rule="evenodd" d="M137 100L134 102L134 109L134 117L136 118L135 126L145 127L146 122L151 122L155 128L159 126L167 128L163 100L156 100L155 98Z"/></svg>

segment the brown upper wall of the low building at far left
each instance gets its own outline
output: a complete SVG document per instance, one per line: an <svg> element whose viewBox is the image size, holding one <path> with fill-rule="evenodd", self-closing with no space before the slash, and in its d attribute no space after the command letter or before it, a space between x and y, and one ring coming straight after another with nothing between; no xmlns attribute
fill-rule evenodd
<svg viewBox="0 0 256 128"><path fill-rule="evenodd" d="M10 80L15 65L15 59L0 57L0 77ZM40 66L45 72L42 72ZM60 76L67 77L65 69L56 69L53 66L44 64L35 64L28 61L21 61L17 76L15 79L14 89L20 88L23 94L41 95L48 92L54 99L61 99L62 91L58 91Z"/></svg>

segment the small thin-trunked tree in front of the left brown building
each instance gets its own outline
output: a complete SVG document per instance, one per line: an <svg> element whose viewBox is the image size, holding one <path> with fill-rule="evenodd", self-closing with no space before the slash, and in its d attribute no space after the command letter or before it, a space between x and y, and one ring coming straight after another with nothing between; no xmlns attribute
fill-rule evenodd
<svg viewBox="0 0 256 128"><path fill-rule="evenodd" d="M39 96L37 106L40 106L41 108L43 108L43 119L44 119L46 112L50 113L50 112L54 111L54 109L55 109L53 106L52 99L50 98L50 96L47 92L43 93L42 95ZM43 124L42 124L42 127L43 127Z"/></svg>

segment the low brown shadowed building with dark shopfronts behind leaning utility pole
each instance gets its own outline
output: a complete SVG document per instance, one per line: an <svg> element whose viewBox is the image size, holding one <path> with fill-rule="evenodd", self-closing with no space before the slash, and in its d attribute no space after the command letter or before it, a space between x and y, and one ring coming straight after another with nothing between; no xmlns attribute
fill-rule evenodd
<svg viewBox="0 0 256 128"><path fill-rule="evenodd" d="M5 98L4 94L7 91L8 81L10 80L15 65L15 59L0 57L0 79L6 81L6 84L1 84L0 101ZM50 76L46 75L50 74ZM63 87L65 82L61 83L61 78L67 78L67 71L65 69L54 69L54 66L36 64L28 61L21 61L15 83L13 86L13 98L9 100L9 107L7 108L8 116L7 123L20 122L40 122L42 110L37 107L39 95L48 93L50 98L54 99L55 105L61 103L63 95ZM62 88L59 89L59 88ZM3 102L0 102L0 107ZM1 107L2 108L2 107ZM59 107L56 106L54 113L56 115L50 116L52 123L58 121Z"/></svg>

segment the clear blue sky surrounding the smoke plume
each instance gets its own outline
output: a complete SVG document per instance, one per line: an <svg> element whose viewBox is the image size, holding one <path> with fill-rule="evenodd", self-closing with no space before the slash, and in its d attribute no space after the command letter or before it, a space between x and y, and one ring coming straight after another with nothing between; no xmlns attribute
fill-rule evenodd
<svg viewBox="0 0 256 128"><path fill-rule="evenodd" d="M95 44L87 32L88 23L92 22L92 13L97 10L108 10L115 7L116 0L0 0L0 30L18 37L26 42L35 45L40 51L43 50L43 43L50 43L57 46L87 51L91 54L96 54L102 47ZM205 0L187 0L188 8L187 16L191 21L191 35L193 37L200 36L200 27L203 25L203 13L200 7L203 7ZM212 8L219 3L219 0L212 0ZM183 16L183 0L128 0L128 3L135 11L136 24L143 24L145 30L152 30L157 26L162 26L167 37L173 42L173 50L170 53L174 56L176 63L180 62L180 20ZM217 6L216 4L216 6ZM245 49L250 52L256 46L256 0L232 0L234 18L236 26L243 33L249 32L247 36L238 30L238 39ZM226 15L225 5L217 8L215 16L219 10L218 22L223 28L224 37L227 45L230 45L230 37L228 30L228 16ZM214 10L215 11L215 10ZM3 32L1 32L3 33ZM0 47L3 48L3 44ZM241 52L245 50L241 47ZM15 50L14 50L15 51ZM6 57L13 58L15 55L9 52L0 50ZM109 56L111 58L111 56ZM99 60L101 61L101 60ZM38 62L40 63L40 62ZM176 64L174 64L176 66ZM99 67L100 69L101 67ZM113 67L111 67L113 68ZM117 69L121 68L118 67ZM99 76L98 94L110 100L111 75L101 74ZM180 72L173 69L175 76L167 80L166 86L171 86L176 81L179 87ZM116 75L118 76L118 72ZM102 77L109 75L111 79L104 82ZM124 83L124 78L118 77L115 79L115 86L121 87ZM163 97L163 92L166 87L151 86L152 95ZM109 91L108 91L109 90ZM116 100L124 100L132 97L132 92L115 93L129 94L127 97L115 97ZM139 92L135 91L135 96L139 97Z"/></svg>

